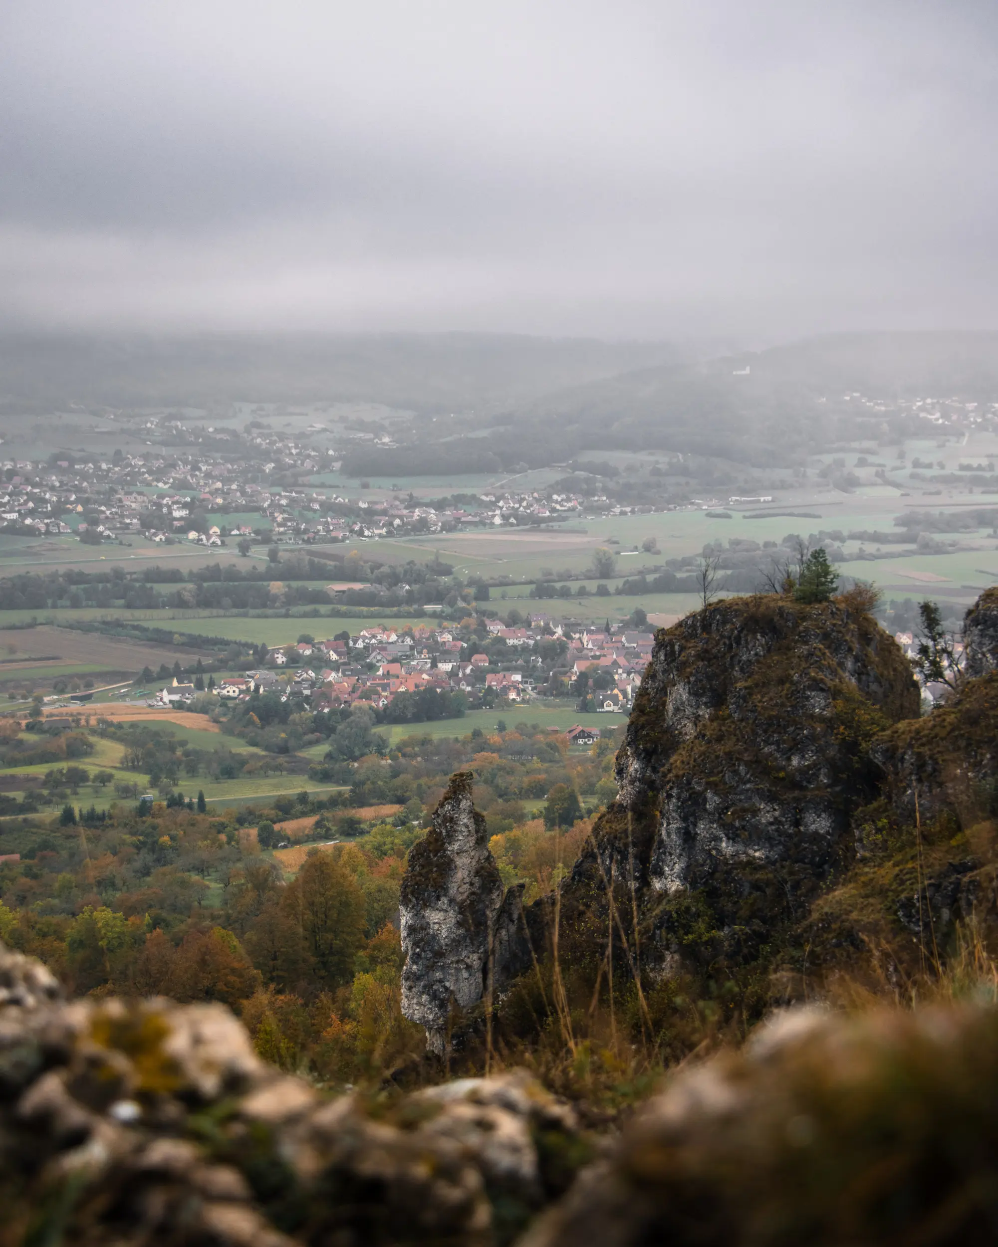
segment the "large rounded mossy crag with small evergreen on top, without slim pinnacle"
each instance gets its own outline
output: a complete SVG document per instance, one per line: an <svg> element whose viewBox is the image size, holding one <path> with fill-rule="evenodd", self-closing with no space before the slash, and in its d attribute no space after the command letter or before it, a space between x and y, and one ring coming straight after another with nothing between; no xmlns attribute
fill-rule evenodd
<svg viewBox="0 0 998 1247"><path fill-rule="evenodd" d="M574 904L584 932L623 880L618 908L640 900L646 966L753 958L848 862L851 813L878 778L871 742L918 708L909 665L862 610L767 595L687 616L656 637L619 799L563 912Z"/></svg>

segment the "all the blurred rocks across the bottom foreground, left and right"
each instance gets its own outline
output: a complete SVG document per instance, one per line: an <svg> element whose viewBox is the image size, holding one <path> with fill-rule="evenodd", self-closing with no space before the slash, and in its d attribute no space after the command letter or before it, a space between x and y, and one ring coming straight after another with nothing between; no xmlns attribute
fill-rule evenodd
<svg viewBox="0 0 998 1247"><path fill-rule="evenodd" d="M998 1010L786 1013L591 1156L524 1071L331 1099L0 945L0 1247L993 1242Z"/></svg>

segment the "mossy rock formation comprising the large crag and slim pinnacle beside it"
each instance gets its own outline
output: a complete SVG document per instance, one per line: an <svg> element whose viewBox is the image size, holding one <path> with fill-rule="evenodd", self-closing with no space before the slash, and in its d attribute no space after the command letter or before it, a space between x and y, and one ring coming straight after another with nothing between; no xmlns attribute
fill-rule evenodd
<svg viewBox="0 0 998 1247"><path fill-rule="evenodd" d="M858 596L730 599L660 631L618 801L556 905L501 900L470 777L455 777L403 887L407 1016L443 1052L458 1011L465 1035L492 986L498 1035L515 1041L548 1015L556 959L580 1006L611 973L646 990L750 966L765 981L763 961L857 857L855 814L883 786L878 742L894 725L917 732L918 713L911 665ZM760 988L751 1008L765 999Z"/></svg>

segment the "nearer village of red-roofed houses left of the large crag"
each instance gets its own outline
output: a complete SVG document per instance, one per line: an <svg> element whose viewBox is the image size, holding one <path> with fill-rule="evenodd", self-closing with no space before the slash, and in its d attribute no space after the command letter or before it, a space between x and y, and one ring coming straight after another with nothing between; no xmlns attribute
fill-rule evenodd
<svg viewBox="0 0 998 1247"><path fill-rule="evenodd" d="M254 692L298 695L313 710L352 706L363 701L384 707L402 692L425 688L462 692L469 697L492 691L495 702L516 705L544 692L575 693L580 687L603 713L626 712L651 657L646 632L598 630L568 632L563 624L538 617L530 627L487 624L490 638L505 642L501 662L475 652L477 637L462 640L457 628L380 625L329 641L299 641L272 650L263 667L220 677L211 690L223 701L237 702ZM565 641L555 662L535 651L545 638ZM478 642L483 643L483 642ZM585 680L580 681L580 676ZM193 685L175 680L157 695L160 705L176 705L196 696Z"/></svg>

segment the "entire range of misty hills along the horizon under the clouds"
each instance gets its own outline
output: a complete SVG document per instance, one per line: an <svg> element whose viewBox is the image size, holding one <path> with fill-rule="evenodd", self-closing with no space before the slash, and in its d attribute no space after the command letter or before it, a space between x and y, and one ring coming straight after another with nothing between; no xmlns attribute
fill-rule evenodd
<svg viewBox="0 0 998 1247"><path fill-rule="evenodd" d="M868 436L846 395L993 400L998 334L842 333L696 358L662 342L499 334L0 337L0 413L69 404L362 402L414 413L359 475L524 470L594 449L790 464ZM430 419L453 416L439 423ZM889 414L889 412L888 412ZM866 413L867 423L871 413Z"/></svg>

